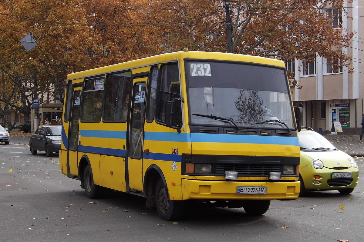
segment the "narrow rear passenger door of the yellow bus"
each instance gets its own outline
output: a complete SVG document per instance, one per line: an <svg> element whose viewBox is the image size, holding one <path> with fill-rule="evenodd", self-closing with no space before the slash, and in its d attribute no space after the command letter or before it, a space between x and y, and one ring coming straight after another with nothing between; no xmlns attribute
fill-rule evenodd
<svg viewBox="0 0 364 242"><path fill-rule="evenodd" d="M74 89L72 97L72 111L70 117L70 128L68 130L68 166L67 166L67 176L75 177L78 176L78 124L80 116L80 104L81 104L81 87Z"/></svg>

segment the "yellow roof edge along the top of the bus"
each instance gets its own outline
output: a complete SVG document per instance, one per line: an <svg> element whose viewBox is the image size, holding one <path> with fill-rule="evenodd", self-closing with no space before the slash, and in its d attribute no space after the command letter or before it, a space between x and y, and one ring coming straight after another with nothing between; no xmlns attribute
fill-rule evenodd
<svg viewBox="0 0 364 242"><path fill-rule="evenodd" d="M260 56L249 56L249 55L240 55L233 53L222 53L222 52L178 51L178 52L171 52L156 56L145 57L137 60L131 60L114 65L98 67L90 70L83 70L80 72L70 73L67 75L67 81L158 64L166 61L183 60L183 59L242 61L242 62L251 62L257 64L274 65L285 68L285 64L281 60L270 59Z"/></svg>

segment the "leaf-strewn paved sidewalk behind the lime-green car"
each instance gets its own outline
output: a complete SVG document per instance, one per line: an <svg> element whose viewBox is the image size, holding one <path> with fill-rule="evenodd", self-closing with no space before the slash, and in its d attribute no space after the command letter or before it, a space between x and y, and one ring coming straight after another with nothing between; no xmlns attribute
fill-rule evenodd
<svg viewBox="0 0 364 242"><path fill-rule="evenodd" d="M350 156L363 157L364 156L364 140L359 140L359 135L335 135L325 134L327 138L337 149L348 153Z"/></svg>

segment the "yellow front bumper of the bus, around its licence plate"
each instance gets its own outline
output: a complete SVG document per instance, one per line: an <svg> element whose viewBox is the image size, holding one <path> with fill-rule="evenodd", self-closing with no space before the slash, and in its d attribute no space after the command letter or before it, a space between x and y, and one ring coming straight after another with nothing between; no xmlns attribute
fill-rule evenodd
<svg viewBox="0 0 364 242"><path fill-rule="evenodd" d="M265 186L266 194L238 194L238 186ZM207 200L292 200L297 199L300 193L299 181L203 181L182 179L182 197L186 199Z"/></svg>

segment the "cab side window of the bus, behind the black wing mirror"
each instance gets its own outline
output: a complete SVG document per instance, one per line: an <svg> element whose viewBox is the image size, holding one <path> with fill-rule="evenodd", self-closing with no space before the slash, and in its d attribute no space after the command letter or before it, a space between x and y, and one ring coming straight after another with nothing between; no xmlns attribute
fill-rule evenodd
<svg viewBox="0 0 364 242"><path fill-rule="evenodd" d="M179 86L178 64L166 64L162 66L160 85L158 90L158 114L157 120L165 122L165 103L175 101L177 103L177 122L175 126L182 126L181 90Z"/></svg>

